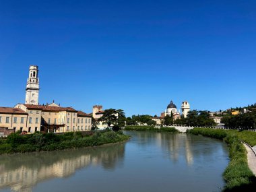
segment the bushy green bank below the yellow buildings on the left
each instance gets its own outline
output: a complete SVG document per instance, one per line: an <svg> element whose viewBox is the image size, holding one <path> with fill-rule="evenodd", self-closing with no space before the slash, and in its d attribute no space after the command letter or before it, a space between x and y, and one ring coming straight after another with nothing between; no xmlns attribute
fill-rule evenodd
<svg viewBox="0 0 256 192"><path fill-rule="evenodd" d="M107 143L117 143L129 139L128 135L107 131L94 135L82 135L80 132L69 132L63 135L54 133L34 133L19 135L11 133L7 139L0 139L0 154L24 153L64 150L100 146Z"/></svg>

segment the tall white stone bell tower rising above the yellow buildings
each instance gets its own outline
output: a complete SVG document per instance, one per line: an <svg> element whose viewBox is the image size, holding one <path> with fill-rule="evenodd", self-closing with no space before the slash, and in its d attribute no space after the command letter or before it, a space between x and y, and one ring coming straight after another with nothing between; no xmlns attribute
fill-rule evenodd
<svg viewBox="0 0 256 192"><path fill-rule="evenodd" d="M28 74L28 81L26 86L26 100L25 104L38 104L39 95L39 79L38 79L38 66L30 65Z"/></svg>

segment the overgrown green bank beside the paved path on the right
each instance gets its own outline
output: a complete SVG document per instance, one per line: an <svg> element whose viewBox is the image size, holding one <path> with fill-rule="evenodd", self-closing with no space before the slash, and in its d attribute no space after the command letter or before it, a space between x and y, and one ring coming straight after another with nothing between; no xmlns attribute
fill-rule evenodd
<svg viewBox="0 0 256 192"><path fill-rule="evenodd" d="M241 143L241 135L250 138L249 133L226 131L224 129L194 128L187 133L223 139L228 144L230 162L223 173L226 186L224 191L254 191L256 178L247 164L247 150ZM248 136L246 136L248 135Z"/></svg>

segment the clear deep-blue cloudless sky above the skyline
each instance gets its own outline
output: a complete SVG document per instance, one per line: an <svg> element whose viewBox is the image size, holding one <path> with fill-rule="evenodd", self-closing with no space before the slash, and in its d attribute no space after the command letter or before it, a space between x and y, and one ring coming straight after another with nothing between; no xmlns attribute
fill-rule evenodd
<svg viewBox="0 0 256 192"><path fill-rule="evenodd" d="M0 106L39 102L133 114L256 102L256 1L0 1Z"/></svg>

